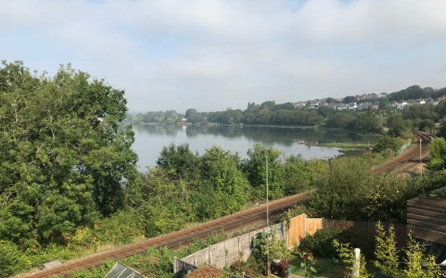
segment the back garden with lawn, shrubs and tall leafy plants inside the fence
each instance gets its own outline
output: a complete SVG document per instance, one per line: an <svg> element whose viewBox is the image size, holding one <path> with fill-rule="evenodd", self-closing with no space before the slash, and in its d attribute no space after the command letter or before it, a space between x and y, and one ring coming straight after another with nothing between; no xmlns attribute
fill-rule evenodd
<svg viewBox="0 0 446 278"><path fill-rule="evenodd" d="M354 266L352 246L362 250L358 267ZM305 278L351 277L352 272L358 278L378 273L394 278L445 277L424 245L409 235L406 245L397 247L394 227L386 230L380 222L376 224L374 240L362 243L349 231L320 229L289 250L284 240L262 232L252 239L251 250L247 261L236 261L226 270L236 275L245 272L251 277L266 277L270 262L270 272L278 277L289 277L290 273Z"/></svg>

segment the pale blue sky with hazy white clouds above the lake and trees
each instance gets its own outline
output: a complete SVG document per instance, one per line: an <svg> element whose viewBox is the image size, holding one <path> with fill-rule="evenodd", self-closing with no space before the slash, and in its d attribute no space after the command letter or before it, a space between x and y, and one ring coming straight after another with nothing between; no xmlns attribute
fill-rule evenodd
<svg viewBox="0 0 446 278"><path fill-rule="evenodd" d="M0 60L70 63L129 111L446 87L444 0L10 0Z"/></svg>

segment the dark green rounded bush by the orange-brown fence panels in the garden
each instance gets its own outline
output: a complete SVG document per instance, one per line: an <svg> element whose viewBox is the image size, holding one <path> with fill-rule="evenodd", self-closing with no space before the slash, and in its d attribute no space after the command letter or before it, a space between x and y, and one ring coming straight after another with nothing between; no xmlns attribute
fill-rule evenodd
<svg viewBox="0 0 446 278"><path fill-rule="evenodd" d="M334 238L338 238L341 231L338 229L319 229L316 234L305 236L300 243L300 249L313 252L316 256L331 258L337 255L332 246Z"/></svg>

